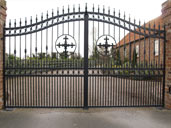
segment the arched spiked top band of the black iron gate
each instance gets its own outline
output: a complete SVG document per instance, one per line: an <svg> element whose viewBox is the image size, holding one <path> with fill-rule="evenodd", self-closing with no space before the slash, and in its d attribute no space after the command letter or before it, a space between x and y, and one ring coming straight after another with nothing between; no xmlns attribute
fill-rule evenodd
<svg viewBox="0 0 171 128"><path fill-rule="evenodd" d="M120 11L117 14L115 9L111 11L111 9L108 8L108 10L106 11L104 6L103 9L100 9L99 6L97 9L95 9L93 5L93 8L91 10L88 10L86 4L84 11L80 10L80 5L78 6L78 9L76 9L75 6L73 6L72 11L70 10L71 9L69 8L69 6L67 11L65 11L63 7L62 13L60 13L59 9L57 9L56 15L54 14L54 10L52 10L51 15L47 12L45 18L43 17L44 15L42 13L40 20L38 20L38 16L36 16L35 22L33 22L32 17L30 18L29 22L25 18L24 25L22 25L21 19L18 24L17 21L15 20L13 25L10 20L8 27L5 28L6 30L5 35L6 36L27 35L27 34L42 31L44 29L48 29L55 25L64 24L67 22L83 21L84 15L88 14L89 21L103 22L106 24L115 25L117 27L120 27L129 32L133 32L141 36L148 37L148 35L150 35L150 37L164 38L161 36L157 36L157 35L161 35L161 33L164 33L163 27L160 24L150 25L150 23L148 24L144 23L143 25L141 25L141 22L139 21L138 23L136 23L135 19L132 22L130 16L126 19L125 13L123 17L121 16Z"/></svg>

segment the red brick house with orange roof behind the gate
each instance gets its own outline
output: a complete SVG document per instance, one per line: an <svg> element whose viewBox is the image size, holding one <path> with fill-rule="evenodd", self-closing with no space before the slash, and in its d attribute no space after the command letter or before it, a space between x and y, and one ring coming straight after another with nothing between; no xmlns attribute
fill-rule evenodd
<svg viewBox="0 0 171 128"><path fill-rule="evenodd" d="M117 49L120 49L121 60L132 60L133 51L137 53L137 63L159 64L163 65L164 39L153 38L152 35L161 36L163 33L158 33L155 30L163 30L162 16L159 16L148 23L136 28L137 32L145 33L147 36L142 36L137 33L129 32L125 37L117 43Z"/></svg>

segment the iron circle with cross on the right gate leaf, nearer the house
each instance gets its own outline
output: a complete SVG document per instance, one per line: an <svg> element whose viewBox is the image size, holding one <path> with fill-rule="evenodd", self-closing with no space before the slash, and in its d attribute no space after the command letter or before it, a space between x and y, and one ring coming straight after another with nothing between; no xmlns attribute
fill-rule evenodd
<svg viewBox="0 0 171 128"><path fill-rule="evenodd" d="M112 54L112 49L116 47L116 40L110 35L102 35L96 42L97 51L103 56Z"/></svg>

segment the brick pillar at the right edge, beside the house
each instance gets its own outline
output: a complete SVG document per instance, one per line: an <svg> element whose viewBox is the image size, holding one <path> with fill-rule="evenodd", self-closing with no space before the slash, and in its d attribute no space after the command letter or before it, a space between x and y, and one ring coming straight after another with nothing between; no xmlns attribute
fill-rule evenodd
<svg viewBox="0 0 171 128"><path fill-rule="evenodd" d="M162 4L162 19L166 25L165 107L171 109L171 0Z"/></svg>

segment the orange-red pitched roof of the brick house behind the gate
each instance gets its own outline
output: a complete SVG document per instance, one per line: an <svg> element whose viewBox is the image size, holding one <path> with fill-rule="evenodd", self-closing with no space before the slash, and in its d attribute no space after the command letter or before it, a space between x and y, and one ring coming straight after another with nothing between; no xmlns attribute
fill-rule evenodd
<svg viewBox="0 0 171 128"><path fill-rule="evenodd" d="M149 24L150 24L151 28L153 29L154 23L155 23L155 29L158 29L159 24L160 25L163 24L162 16L159 16L159 17L149 21L148 23L145 24L145 26L146 26L146 28L149 28ZM136 29L136 30L139 31L139 29ZM141 29L140 31L143 31L143 30ZM119 46L119 43L120 43L120 46L122 46L124 44L128 44L129 42L133 42L133 41L139 40L141 38L143 38L143 36L141 36L139 34L135 34L133 32L130 32L125 37L123 37L120 42L117 43L117 46Z"/></svg>

